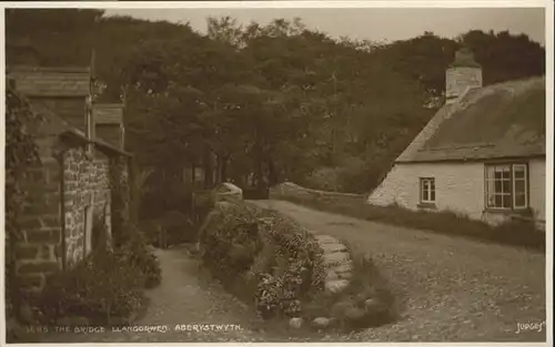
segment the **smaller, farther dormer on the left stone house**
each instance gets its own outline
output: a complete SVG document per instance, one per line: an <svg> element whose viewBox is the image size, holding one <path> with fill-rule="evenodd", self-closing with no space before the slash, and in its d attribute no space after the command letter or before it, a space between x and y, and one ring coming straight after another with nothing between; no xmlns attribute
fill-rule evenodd
<svg viewBox="0 0 555 347"><path fill-rule="evenodd" d="M120 150L124 149L123 104L94 103L94 137Z"/></svg>

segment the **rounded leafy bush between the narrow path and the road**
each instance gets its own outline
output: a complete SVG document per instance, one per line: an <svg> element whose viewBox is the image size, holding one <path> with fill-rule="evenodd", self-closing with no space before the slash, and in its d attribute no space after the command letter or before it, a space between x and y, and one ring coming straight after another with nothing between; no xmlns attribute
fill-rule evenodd
<svg viewBox="0 0 555 347"><path fill-rule="evenodd" d="M200 234L204 263L224 284L238 288L235 294L255 304L264 318L297 314L302 303L323 287L315 239L270 211L222 205Z"/></svg>

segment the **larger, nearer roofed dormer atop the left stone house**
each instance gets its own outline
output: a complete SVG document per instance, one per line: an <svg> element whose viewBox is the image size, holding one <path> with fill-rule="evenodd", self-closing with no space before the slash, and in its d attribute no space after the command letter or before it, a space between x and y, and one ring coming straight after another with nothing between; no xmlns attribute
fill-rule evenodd
<svg viewBox="0 0 555 347"><path fill-rule="evenodd" d="M87 133L87 98L91 93L89 68L8 67L14 89L38 108L47 108Z"/></svg>

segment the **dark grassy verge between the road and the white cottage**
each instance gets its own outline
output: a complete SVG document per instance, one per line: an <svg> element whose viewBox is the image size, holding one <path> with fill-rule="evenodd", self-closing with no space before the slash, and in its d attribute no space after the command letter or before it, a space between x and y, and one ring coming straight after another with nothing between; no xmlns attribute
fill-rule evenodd
<svg viewBox="0 0 555 347"><path fill-rule="evenodd" d="M425 212L398 206L373 206L366 204L363 197L352 196L299 197L280 195L274 198L360 220L545 252L545 233L537 229L534 223L528 221L511 221L492 226L453 212Z"/></svg>

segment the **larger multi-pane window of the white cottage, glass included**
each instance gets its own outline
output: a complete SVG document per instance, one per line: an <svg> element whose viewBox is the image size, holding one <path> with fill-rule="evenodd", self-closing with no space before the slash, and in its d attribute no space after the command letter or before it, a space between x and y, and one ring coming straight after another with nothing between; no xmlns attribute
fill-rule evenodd
<svg viewBox="0 0 555 347"><path fill-rule="evenodd" d="M528 207L526 164L486 165L486 207L524 210Z"/></svg>

